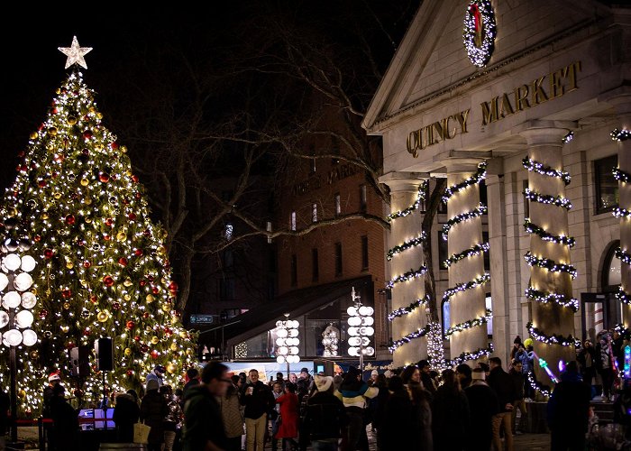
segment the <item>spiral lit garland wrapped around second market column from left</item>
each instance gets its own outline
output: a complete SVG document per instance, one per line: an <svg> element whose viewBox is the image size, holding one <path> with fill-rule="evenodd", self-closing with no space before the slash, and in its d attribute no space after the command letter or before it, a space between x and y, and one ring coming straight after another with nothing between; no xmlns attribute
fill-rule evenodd
<svg viewBox="0 0 631 451"><path fill-rule="evenodd" d="M453 198L453 195L464 190L464 189L469 189L472 186L478 185L480 184L480 181L482 181L483 179L486 179L487 177L487 163L486 161L480 162L480 164L478 165L478 170L476 170L475 173L473 173L473 175L471 175L471 177L462 180L461 182L455 183L450 187L447 187L447 189L445 189L445 193L443 196L443 201L445 203L448 203L449 200L451 198ZM487 212L488 208L487 206L485 206L484 204L482 204L480 202L480 204L478 205L478 207L472 209L471 211L462 213L460 215L456 215L453 216L452 218L450 218L447 223L443 226L443 231L442 231L442 236L443 239L446 241L448 239L450 230L452 229L453 226L455 226L456 224L460 224L463 221L470 221L473 218L482 216L483 214L485 214ZM489 243L478 243L478 244L473 244L470 248L463 250L460 253L453 253L449 258L447 258L447 260L445 260L444 265L446 267L451 267L454 264L458 264L459 262L462 262L462 260L468 258L468 257L472 257L474 255L479 255L480 253L485 253L489 251ZM443 294L443 301L444 302L449 302L450 299L455 296L457 293L462 292L462 291L466 291L466 290L471 290L474 289L476 287L479 287L480 285L484 285L485 283L490 281L490 274L488 272L485 272L484 274L482 274L480 277L475 278L472 281L467 281L467 282L462 282L459 283L457 285L455 285L452 288L449 288L447 290L444 291ZM484 323L487 322L487 320L489 318L492 317L492 313L491 310L489 308L487 308L485 310L486 316L482 317L482 318L471 318L468 319L467 321L464 321L460 324L456 324L453 327L449 327L447 329L447 332L445 332L445 336L451 336L456 332L462 332L462 330L466 330L469 329L471 327L481 327L484 325ZM475 360L480 358L483 355L488 355L490 353L493 352L493 346L489 345L489 347L484 348L484 349L478 349L476 351L473 352L464 352L462 353L460 356L456 357L455 359L453 359L451 361L452 364L456 364L455 362L458 362L457 364L462 364L462 362L465 362L467 360Z"/></svg>

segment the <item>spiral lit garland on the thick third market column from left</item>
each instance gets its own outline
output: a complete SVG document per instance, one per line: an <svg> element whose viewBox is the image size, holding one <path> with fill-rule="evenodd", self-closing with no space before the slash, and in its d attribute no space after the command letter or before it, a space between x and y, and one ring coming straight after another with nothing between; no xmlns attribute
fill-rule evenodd
<svg viewBox="0 0 631 451"><path fill-rule="evenodd" d="M569 143L572 141L573 134L568 133L563 138L562 143ZM545 166L544 163L540 161L532 160L528 157L522 160L522 164L524 168L531 172L536 172L539 175L543 175L544 177L552 177L555 179L561 179L565 186L569 185L572 181L570 177L570 173L565 170L555 170L550 166ZM532 202L538 202L541 204L551 205L553 207L560 207L569 210L572 208L572 202L569 199L564 198L563 196L550 196L545 195L539 192L536 192L532 189L524 190L524 197L527 200ZM530 221L529 218L525 218L524 220L524 228L526 232L531 235L537 235L542 241L553 244L561 244L566 245L568 247L574 246L576 244L576 240L572 236L566 235L553 235L546 231L543 227L538 226ZM548 272L565 272L570 274L572 279L574 279L577 275L576 268L572 266L572 264L559 263L555 262L552 259L548 259L545 257L537 257L530 252L527 252L524 256L526 262L529 266L537 266ZM532 286L528 287L525 291L526 298L534 300L535 302L541 303L550 303L553 302L559 305L562 308L570 308L572 312L576 312L579 309L579 301L578 299L568 298L567 296L549 291L541 291L535 290ZM533 339L545 343L547 345L563 345L563 346L580 346L581 342L574 338L573 336L560 336L560 335L546 335L543 331L540 331L538 328L533 327L532 323L528 323L526 325L526 329L530 333L530 336ZM540 366L546 371L546 373L550 374L547 369L547 364L543 359L539 359ZM551 378L551 380L553 380ZM541 392L544 396L550 396L550 391L544 389L541 384L536 382L531 374L528 374L528 382L531 387L535 390Z"/></svg>

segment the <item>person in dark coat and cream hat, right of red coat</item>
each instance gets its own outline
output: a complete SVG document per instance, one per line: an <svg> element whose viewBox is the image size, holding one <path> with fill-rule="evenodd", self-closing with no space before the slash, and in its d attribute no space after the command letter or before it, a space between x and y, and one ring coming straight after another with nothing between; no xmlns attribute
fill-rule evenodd
<svg viewBox="0 0 631 451"><path fill-rule="evenodd" d="M334 395L333 377L316 374L314 383L317 391L306 401L304 430L315 450L337 451L349 422L346 409Z"/></svg>

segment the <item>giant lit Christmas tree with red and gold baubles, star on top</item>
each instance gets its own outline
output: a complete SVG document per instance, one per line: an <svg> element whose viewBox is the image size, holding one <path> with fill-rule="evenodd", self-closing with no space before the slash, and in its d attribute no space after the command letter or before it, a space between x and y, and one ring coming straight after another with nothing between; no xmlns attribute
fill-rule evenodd
<svg viewBox="0 0 631 451"><path fill-rule="evenodd" d="M78 47L60 49L86 67ZM21 410L38 412L47 375L59 369L69 386L69 348L114 340L114 389L139 389L156 364L166 382L182 382L196 357L196 336L180 324L178 286L171 279L166 237L154 225L144 189L127 150L102 124L94 93L78 69L57 90L48 117L20 154L14 185L0 214L17 222L17 235L33 241L38 303L33 330L39 341L18 349ZM8 351L0 346L8 381ZM87 400L102 397L102 374L91 354Z"/></svg>

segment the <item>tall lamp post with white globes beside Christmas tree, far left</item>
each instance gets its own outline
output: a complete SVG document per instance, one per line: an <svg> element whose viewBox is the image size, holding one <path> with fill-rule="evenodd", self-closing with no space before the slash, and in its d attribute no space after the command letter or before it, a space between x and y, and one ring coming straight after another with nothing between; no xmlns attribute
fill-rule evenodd
<svg viewBox="0 0 631 451"><path fill-rule="evenodd" d="M12 229L13 223L5 222L7 229ZM9 371L11 374L11 441L17 442L17 358L16 348L19 345L32 346L37 343L37 334L30 328L33 322L31 308L37 303L37 296L32 291L32 277L29 272L35 269L35 259L31 255L19 255L28 251L31 242L26 239L5 239L0 245L2 262L0 263L0 294L2 294L2 308L0 309L0 329L2 343L9 348Z"/></svg>

